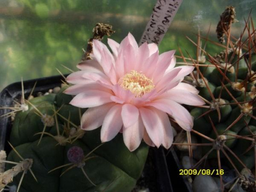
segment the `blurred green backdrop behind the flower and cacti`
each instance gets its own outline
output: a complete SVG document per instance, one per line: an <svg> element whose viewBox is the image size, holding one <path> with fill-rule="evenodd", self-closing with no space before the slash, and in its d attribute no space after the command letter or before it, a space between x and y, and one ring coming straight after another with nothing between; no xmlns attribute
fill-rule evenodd
<svg viewBox="0 0 256 192"><path fill-rule="evenodd" d="M120 41L131 32L137 41L143 33L156 0L0 0L0 91L8 84L68 73L65 65L76 70L96 23L113 25L111 38ZM160 44L160 52L177 49L195 54L195 47L185 35L196 39L200 29L210 37L215 33L219 15L226 6L236 7L239 23L233 34L239 36L255 0L183 0ZM254 21L255 23L255 21ZM256 27L256 25L255 25ZM214 53L216 48L208 50ZM177 52L177 54L179 54Z"/></svg>

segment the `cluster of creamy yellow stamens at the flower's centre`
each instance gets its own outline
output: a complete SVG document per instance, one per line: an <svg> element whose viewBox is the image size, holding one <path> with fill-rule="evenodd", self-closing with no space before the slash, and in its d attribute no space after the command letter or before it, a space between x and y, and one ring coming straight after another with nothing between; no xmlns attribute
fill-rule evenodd
<svg viewBox="0 0 256 192"><path fill-rule="evenodd" d="M142 97L155 88L152 79L134 70L120 78L118 84L124 90L130 90L135 97Z"/></svg>

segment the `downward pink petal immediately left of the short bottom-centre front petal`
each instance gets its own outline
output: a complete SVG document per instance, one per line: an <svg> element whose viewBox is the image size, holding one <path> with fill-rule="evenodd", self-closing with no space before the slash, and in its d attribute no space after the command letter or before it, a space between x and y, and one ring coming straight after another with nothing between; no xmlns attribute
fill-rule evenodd
<svg viewBox="0 0 256 192"><path fill-rule="evenodd" d="M100 132L101 142L112 140L121 130L123 125L121 111L122 105L116 104L106 114Z"/></svg>

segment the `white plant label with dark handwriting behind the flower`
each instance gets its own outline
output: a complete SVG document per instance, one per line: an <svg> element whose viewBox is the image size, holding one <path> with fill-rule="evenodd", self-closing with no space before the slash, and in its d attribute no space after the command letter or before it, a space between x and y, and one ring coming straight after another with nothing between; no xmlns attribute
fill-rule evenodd
<svg viewBox="0 0 256 192"><path fill-rule="evenodd" d="M155 44L159 45L181 3L182 0L157 0L139 45L146 41L148 44L155 42Z"/></svg>

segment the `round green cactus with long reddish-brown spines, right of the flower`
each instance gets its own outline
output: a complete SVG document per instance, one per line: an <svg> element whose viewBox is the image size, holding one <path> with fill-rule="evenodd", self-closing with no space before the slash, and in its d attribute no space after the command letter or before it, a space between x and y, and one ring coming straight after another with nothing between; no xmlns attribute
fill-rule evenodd
<svg viewBox="0 0 256 192"><path fill-rule="evenodd" d="M237 172L240 180L244 180L242 170L246 169L250 174L256 170L256 41L255 31L249 31L249 20L244 30L248 30L249 37L245 41L243 36L233 41L235 38L231 38L227 31L226 50L215 56L200 48L198 35L198 44L193 42L197 45L198 57L189 59L190 65L195 65L195 71L184 79L199 90L207 103L203 108L190 108L194 127L190 138L187 137L190 140L187 143L193 143L187 147L189 155L193 157L195 145L202 147L203 152L197 156L198 162L192 168L222 169L228 166ZM200 59L204 54L206 59ZM191 137L196 137L199 143L192 142ZM224 191L225 180L221 175L219 177ZM249 191L255 191L255 188L251 187Z"/></svg>

